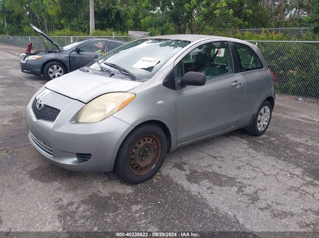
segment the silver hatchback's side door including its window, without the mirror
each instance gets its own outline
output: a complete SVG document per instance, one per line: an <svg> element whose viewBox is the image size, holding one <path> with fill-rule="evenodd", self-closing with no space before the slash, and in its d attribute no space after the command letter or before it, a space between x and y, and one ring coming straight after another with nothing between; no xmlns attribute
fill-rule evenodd
<svg viewBox="0 0 319 238"><path fill-rule="evenodd" d="M175 77L189 71L206 75L205 85L176 90L177 144L232 128L238 121L245 81L234 73L233 46L228 41L205 42L175 61Z"/></svg>

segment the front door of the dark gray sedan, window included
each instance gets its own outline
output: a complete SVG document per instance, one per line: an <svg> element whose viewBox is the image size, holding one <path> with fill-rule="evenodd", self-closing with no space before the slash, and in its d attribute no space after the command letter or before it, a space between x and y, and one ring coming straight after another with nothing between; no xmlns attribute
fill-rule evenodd
<svg viewBox="0 0 319 238"><path fill-rule="evenodd" d="M77 70L99 58L106 49L107 40L96 39L78 47L78 53L70 53L70 69Z"/></svg>

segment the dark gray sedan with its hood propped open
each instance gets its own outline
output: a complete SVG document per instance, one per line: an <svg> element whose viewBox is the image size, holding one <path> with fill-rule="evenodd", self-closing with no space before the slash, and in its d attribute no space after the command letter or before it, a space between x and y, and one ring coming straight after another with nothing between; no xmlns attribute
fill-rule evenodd
<svg viewBox="0 0 319 238"><path fill-rule="evenodd" d="M43 51L26 54L20 62L21 71L37 76L44 75L48 80L60 77L77 70L123 44L125 41L115 39L93 38L79 39L65 46L60 46L40 29L30 24L33 30L42 37ZM56 49L48 48L46 41Z"/></svg>

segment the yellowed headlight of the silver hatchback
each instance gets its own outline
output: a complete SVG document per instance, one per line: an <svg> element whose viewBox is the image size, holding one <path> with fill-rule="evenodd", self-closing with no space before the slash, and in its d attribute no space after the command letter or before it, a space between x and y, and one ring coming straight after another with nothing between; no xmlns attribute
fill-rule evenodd
<svg viewBox="0 0 319 238"><path fill-rule="evenodd" d="M135 98L131 92L111 92L86 104L80 110L76 122L92 123L108 118Z"/></svg>

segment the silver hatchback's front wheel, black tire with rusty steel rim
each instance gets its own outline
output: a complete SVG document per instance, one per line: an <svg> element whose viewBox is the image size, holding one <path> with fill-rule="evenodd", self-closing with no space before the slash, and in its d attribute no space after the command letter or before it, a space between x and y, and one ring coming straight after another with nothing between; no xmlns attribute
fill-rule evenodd
<svg viewBox="0 0 319 238"><path fill-rule="evenodd" d="M143 140L145 142L143 142ZM156 145L154 146L156 141L159 141L158 147L156 147ZM140 142L142 142L142 144ZM137 143L139 143L139 146L137 146ZM145 159L142 158L144 155L141 153L143 152L144 154L147 148L154 153L145 154L146 157L149 157ZM162 128L152 123L145 123L135 127L123 140L117 152L114 170L127 183L142 183L152 178L154 174L159 171L166 154L167 137ZM142 159L145 161L142 161ZM134 164L134 160L136 161L136 165ZM148 163L150 160L152 160L152 163L150 162L150 164L146 166L144 164L145 168L141 166L140 163ZM134 165L134 167L132 165ZM135 166L137 166L137 169L135 169ZM137 174L143 172L145 172L145 174Z"/></svg>

